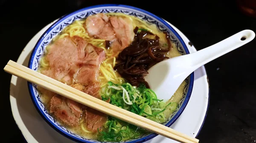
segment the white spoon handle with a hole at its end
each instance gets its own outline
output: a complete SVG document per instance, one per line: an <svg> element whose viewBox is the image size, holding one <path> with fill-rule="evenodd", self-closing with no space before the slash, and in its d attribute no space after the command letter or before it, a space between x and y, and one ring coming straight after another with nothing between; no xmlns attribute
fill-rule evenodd
<svg viewBox="0 0 256 143"><path fill-rule="evenodd" d="M192 70L196 70L206 63L227 54L234 49L249 43L255 37L255 33L251 30L243 30L233 36L228 37L212 46L204 48L195 53L189 54Z"/></svg>

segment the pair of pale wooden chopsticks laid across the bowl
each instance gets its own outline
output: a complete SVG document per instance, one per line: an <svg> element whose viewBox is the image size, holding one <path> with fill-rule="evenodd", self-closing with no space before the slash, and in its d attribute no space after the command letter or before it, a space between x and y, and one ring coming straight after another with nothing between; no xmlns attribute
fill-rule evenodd
<svg viewBox="0 0 256 143"><path fill-rule="evenodd" d="M96 109L110 116L119 118L120 120L131 123L135 126L139 126L143 129L147 129L148 131L154 132L156 134L160 134L164 137L168 137L172 140L176 140L181 143L199 142L199 140L196 138L177 132L174 129L171 129L160 123L154 122L145 117L129 112L125 109L121 109L103 100L90 96L89 94L74 89L71 86L47 77L44 74L33 71L32 69L29 69L26 66L22 66L12 60L9 60L7 65L4 67L4 70L10 74L21 77L52 92L84 104L85 106Z"/></svg>

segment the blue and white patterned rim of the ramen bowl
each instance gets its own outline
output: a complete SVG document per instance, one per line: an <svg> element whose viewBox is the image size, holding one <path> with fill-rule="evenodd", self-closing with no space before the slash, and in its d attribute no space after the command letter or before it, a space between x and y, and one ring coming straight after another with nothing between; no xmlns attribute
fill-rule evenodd
<svg viewBox="0 0 256 143"><path fill-rule="evenodd" d="M49 29L47 29L47 31L44 32L44 34L40 37L40 39L36 43L35 48L32 51L28 67L35 71L38 70L38 67L40 64L39 60L44 54L44 49L51 42L52 38L55 37L59 32L61 32L61 30L64 29L66 26L70 25L75 20L84 19L93 14L110 13L110 12L119 12L119 13L132 15L142 20L145 20L149 24L155 24L160 31L166 31L169 33L172 42L175 43L180 54L189 54L189 50L187 49L186 44L184 43L180 35L168 23L166 23L165 20L161 19L160 17L157 17L154 14L151 14L148 11L138 9L132 6L106 4L106 5L90 6L84 9L80 9L71 14L64 15L58 21L53 23L52 26L50 26ZM194 72L185 81L186 81L186 86L183 89L184 96L182 98L180 106L178 107L177 111L172 115L170 120L164 123L165 126L171 126L185 109L189 101L190 95L192 93L192 88L194 83ZM61 126L49 114L49 112L47 112L46 106L43 104L43 102L40 99L37 86L35 84L28 82L28 88L36 109L44 118L44 120L50 126L52 126L52 128L54 128L57 132L63 134L65 137L68 137L71 140L74 140L76 142L99 143L99 141L97 140L89 140L79 136L78 134L74 134L73 132L66 129L64 126ZM144 137L141 137L136 140L128 140L125 143L142 143L156 136L157 134L152 133L149 135L145 135Z"/></svg>

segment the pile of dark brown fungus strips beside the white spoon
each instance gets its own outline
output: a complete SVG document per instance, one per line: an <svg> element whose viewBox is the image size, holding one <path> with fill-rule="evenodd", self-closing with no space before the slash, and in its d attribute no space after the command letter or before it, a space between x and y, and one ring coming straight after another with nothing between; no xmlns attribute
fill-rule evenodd
<svg viewBox="0 0 256 143"><path fill-rule="evenodd" d="M165 56L165 53L171 50L171 40L165 32L168 48L162 49L159 43L160 37L157 35L149 31L138 32L138 27L134 29L134 33L133 42L119 53L117 59L119 63L114 69L132 86L139 86L140 83L144 83L147 88L150 88L143 74L148 74L147 70L151 66L169 58ZM153 35L155 38L145 37L147 34Z"/></svg>

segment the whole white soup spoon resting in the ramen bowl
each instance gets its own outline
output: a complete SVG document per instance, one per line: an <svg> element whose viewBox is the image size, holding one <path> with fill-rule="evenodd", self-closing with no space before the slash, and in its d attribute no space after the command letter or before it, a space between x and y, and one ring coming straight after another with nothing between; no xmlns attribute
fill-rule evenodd
<svg viewBox="0 0 256 143"><path fill-rule="evenodd" d="M145 80L159 99L169 100L186 77L196 69L243 46L254 37L253 31L243 30L200 51L164 60L148 70Z"/></svg>

